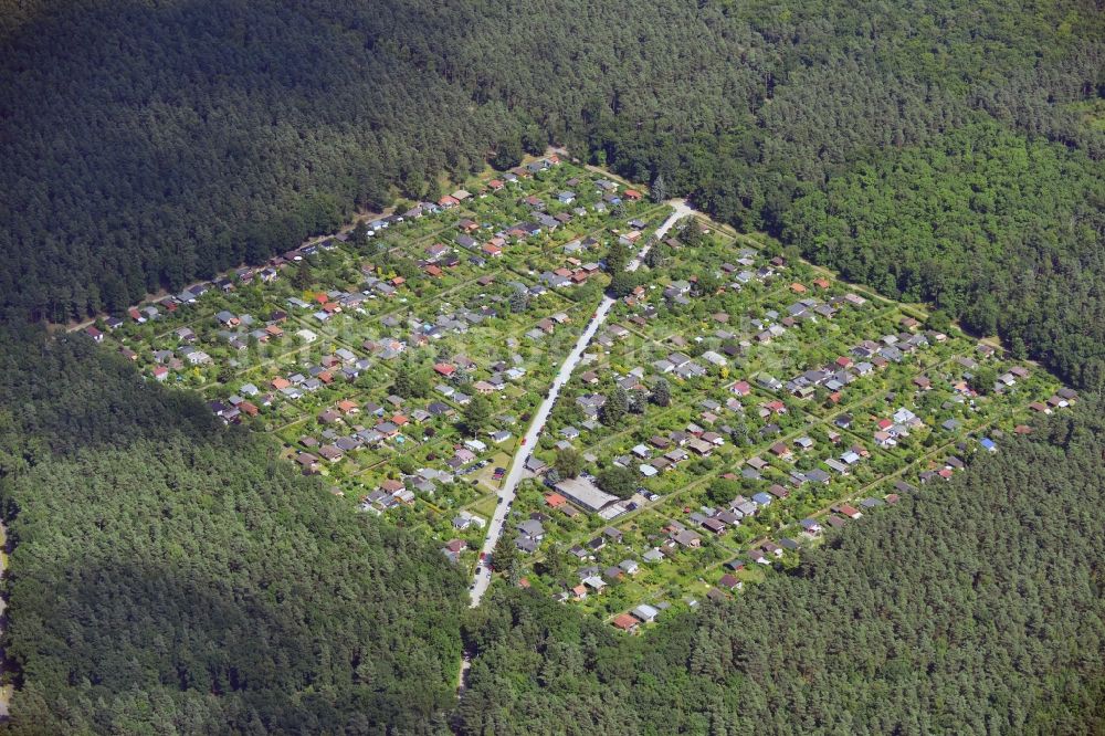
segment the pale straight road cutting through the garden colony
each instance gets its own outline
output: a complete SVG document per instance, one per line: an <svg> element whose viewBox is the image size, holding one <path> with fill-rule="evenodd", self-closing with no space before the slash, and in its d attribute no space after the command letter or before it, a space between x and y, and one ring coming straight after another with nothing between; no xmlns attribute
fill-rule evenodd
<svg viewBox="0 0 1105 736"><path fill-rule="evenodd" d="M674 208L671 217L664 220L664 223L660 225L656 230L656 240L663 239L667 231L671 230L681 219L693 213L686 202L682 199L675 199L669 202ZM641 265L641 261L648 254L649 248L645 245L641 249L641 252L636 254L629 265L627 265L628 271L636 271L638 266ZM511 504L514 503L514 497L518 488L518 482L522 481L522 475L526 469L526 461L529 460L530 455L534 454L534 448L537 444L537 438L540 435L541 429L545 427L545 421L549 417L549 412L552 411L552 404L556 403L557 397L560 395L560 389L564 385L568 382L571 377L571 371L575 370L576 366L579 365L580 358L583 356L583 351L591 344L591 339L594 334L606 322L607 315L610 314L610 308L613 307L614 299L609 296L602 297L602 303L599 304L599 308L588 323L587 328L583 334L579 336L576 341L576 347L572 348L571 353L565 359L564 365L560 366L559 372L557 372L556 379L552 381L552 386L549 389L548 395L541 404L537 408L534 419L529 424L529 430L525 434L523 443L518 446L518 451L514 455L514 460L511 464L511 471L506 475L506 481L503 483L503 487L498 492L498 505L495 506L495 513L492 515L491 524L487 526L487 538L484 539L483 547L481 551L485 557L490 557L492 550L495 549L495 544L498 538L503 536L503 527L506 525L506 517L511 513ZM480 604L480 600L483 598L484 593L487 592L487 587L491 585L491 568L480 561L476 564L475 580L472 585L472 608Z"/></svg>

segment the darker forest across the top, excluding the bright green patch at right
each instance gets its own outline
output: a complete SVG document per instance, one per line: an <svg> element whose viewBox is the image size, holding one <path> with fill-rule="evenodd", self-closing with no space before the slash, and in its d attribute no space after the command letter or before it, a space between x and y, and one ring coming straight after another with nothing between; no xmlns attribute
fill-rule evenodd
<svg viewBox="0 0 1105 736"><path fill-rule="evenodd" d="M941 136L976 115L1097 170L1105 154L1088 0L3 10L0 299L55 322L261 261L358 206L433 197L442 170L493 150L565 144L774 234L796 198L904 146L955 146ZM1071 236L1033 245L1067 253ZM1022 328L1033 354L1081 357Z"/></svg>

